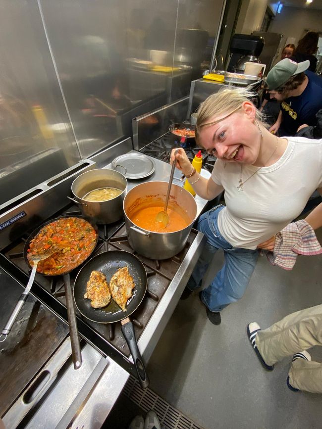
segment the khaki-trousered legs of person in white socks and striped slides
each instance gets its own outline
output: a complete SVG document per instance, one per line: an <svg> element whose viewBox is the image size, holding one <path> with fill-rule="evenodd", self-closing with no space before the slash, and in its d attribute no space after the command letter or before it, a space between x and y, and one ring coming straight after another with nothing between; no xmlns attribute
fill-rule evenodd
<svg viewBox="0 0 322 429"><path fill-rule="evenodd" d="M306 351L315 345L322 346L322 305L292 313L264 331L252 322L247 334L268 371L274 369L276 362L293 355L286 379L289 389L322 393L322 363L313 362Z"/></svg>

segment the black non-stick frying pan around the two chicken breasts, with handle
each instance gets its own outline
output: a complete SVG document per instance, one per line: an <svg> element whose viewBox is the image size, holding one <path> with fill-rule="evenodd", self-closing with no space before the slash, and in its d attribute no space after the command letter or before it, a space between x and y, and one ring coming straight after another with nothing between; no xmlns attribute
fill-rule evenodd
<svg viewBox="0 0 322 429"><path fill-rule="evenodd" d="M104 308L93 308L91 301L84 298L86 284L89 281L92 271L101 271L106 276L107 283L109 283L116 270L126 266L135 284L135 288L132 291L133 295L128 301L126 311L121 310L113 300ZM129 316L141 304L146 290L147 272L144 265L132 253L123 250L110 250L94 256L79 271L74 284L75 303L84 317L98 323L121 322L122 333L131 351L142 387L148 387L150 381L145 371L135 338L134 327Z"/></svg>

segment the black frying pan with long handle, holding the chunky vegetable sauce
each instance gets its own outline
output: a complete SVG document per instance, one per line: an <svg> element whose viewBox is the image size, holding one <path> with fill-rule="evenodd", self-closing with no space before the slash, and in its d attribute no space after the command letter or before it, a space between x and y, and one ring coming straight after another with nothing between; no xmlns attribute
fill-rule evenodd
<svg viewBox="0 0 322 429"><path fill-rule="evenodd" d="M51 219L50 221L45 222L43 225L38 227L35 231L33 231L30 234L30 236L28 237L28 239L25 243L25 247L23 250L25 261L29 265L29 267L31 267L31 265L30 265L28 258L27 258L27 250L29 249L30 241L39 233L39 231L42 228L44 228L44 226L46 226L46 225L48 225L48 224L50 224L50 223L52 223L58 219L72 218L72 217L84 219L82 216L74 216L74 215L73 216L61 216L60 218ZM90 223L92 225L92 227L95 229L95 231L97 232L97 226L95 224L92 224L88 219L85 219L85 220L88 223ZM94 246L92 252L94 251L94 249L96 247L98 238L99 238L99 236L98 236L98 234L96 234L96 242L95 242L95 246ZM91 252L91 254L92 254L92 252ZM72 351L72 357L73 357L73 363L74 363L75 370L80 368L82 365L82 354L81 354L79 338L78 338L78 330L77 330L77 323L76 323L76 316L75 316L75 307L74 307L74 301L73 301L73 296L72 296L72 291L71 291L71 286L70 286L69 273L73 269L75 269L76 267L81 265L84 261L86 261L86 259L88 259L90 257L90 255L88 255L87 258L78 261L77 264L75 264L72 269L70 269L66 272L63 272L61 274L58 274L59 276L63 276L63 280L64 280L68 325L69 325L70 342L71 342L71 351ZM55 276L55 274L52 274L52 275L43 274L43 276L52 277L52 276Z"/></svg>

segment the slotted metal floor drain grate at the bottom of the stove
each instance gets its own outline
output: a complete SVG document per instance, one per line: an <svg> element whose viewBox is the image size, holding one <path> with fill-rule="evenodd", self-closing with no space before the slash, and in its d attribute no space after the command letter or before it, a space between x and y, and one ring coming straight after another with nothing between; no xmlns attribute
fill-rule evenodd
<svg viewBox="0 0 322 429"><path fill-rule="evenodd" d="M149 387L142 389L139 382L132 376L125 384L123 394L143 411L154 410L159 417L161 427L164 429L204 429L164 401Z"/></svg>

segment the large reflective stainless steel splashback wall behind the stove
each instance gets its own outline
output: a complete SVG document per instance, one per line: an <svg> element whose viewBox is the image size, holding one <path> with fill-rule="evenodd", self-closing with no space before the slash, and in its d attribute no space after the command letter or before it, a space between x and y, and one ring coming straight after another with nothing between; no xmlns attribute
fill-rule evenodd
<svg viewBox="0 0 322 429"><path fill-rule="evenodd" d="M188 95L222 4L2 0L0 204Z"/></svg>

